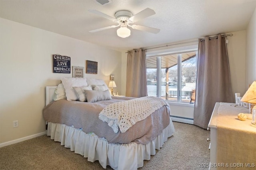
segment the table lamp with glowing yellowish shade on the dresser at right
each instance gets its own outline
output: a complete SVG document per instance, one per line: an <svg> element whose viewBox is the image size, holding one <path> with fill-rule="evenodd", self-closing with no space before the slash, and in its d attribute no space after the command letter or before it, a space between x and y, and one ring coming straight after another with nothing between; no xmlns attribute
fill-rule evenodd
<svg viewBox="0 0 256 170"><path fill-rule="evenodd" d="M248 90L242 97L241 101L253 104L251 125L256 127L256 81L254 81L252 85L248 88ZM251 113L251 106L250 106L250 113Z"/></svg>

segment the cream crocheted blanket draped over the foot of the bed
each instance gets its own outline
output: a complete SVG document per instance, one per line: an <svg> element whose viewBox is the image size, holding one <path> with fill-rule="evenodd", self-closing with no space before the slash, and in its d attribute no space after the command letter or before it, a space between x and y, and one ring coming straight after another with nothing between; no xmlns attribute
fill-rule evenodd
<svg viewBox="0 0 256 170"><path fill-rule="evenodd" d="M114 133L126 132L137 121L146 119L151 113L169 104L161 98L146 96L108 105L100 114L99 119L107 122Z"/></svg>

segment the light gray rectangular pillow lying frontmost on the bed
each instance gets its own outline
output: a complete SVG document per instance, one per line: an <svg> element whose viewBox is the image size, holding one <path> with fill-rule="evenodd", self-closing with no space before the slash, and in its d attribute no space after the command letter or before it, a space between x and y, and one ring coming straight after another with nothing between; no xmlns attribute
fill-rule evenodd
<svg viewBox="0 0 256 170"><path fill-rule="evenodd" d="M101 100L112 100L111 95L108 90L84 90L87 98L87 102L98 102Z"/></svg>

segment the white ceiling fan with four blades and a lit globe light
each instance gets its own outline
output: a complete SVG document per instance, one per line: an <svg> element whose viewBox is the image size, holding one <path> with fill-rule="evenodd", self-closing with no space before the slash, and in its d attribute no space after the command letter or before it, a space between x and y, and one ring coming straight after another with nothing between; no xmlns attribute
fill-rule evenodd
<svg viewBox="0 0 256 170"><path fill-rule="evenodd" d="M130 25L130 24L132 24L136 21L142 20L144 18L147 18L149 16L152 16L152 15L156 14L154 12L154 10L152 10L150 8L146 8L145 10L142 10L141 12L139 12L138 14L135 14L135 15L132 15L132 13L130 11L127 11L127 10L120 10L120 11L116 12L116 14L115 14L116 18L108 16L107 14L104 14L104 13L102 13L100 11L97 11L97 10L89 10L89 12L91 12L93 14L96 14L98 16L104 17L104 18L106 18L108 20L111 20L113 22L118 23L118 25L111 25L111 26L108 26L108 27L103 27L103 28L94 29L94 30L89 31L91 33L94 33L94 32L97 32L97 31L102 31L102 30L105 30L105 29L115 28L115 27L118 27L118 26L120 26L120 28L117 29L116 33L119 37L122 37L122 38L129 37L130 34L131 34L131 31L130 31L130 29L127 28L127 26L132 27L132 29L147 31L147 32L150 32L150 33L158 33L160 31L160 29L157 29L157 28L146 27L146 26L135 25L135 24Z"/></svg>

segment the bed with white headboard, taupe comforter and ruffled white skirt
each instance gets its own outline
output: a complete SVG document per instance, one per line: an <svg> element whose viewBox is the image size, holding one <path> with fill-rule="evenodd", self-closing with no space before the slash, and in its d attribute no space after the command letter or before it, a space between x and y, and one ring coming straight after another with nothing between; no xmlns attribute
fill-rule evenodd
<svg viewBox="0 0 256 170"><path fill-rule="evenodd" d="M87 82L90 81L87 80ZM93 80L88 84L101 83L102 81ZM120 128L115 133L109 122L100 120L99 115L109 106L121 103L124 105L127 101L131 103L137 99L111 96L111 100L96 102L89 102L89 98L87 98L88 102L81 102L80 99L68 101L65 98L54 101L58 89L56 88L57 86L46 86L46 107L43 111L46 134L76 154L83 155L88 161L98 160L103 168L107 165L115 170L140 168L143 166L143 161L150 160L150 155L156 154L156 149L159 150L168 137L174 134L174 125L169 117L170 109L166 105L144 120L137 121L126 131L121 132ZM95 93L100 90L84 91ZM88 105L92 109L84 109ZM91 112L94 112L92 119L86 120ZM168 113L168 118L166 118L166 113ZM84 123L86 121L87 123Z"/></svg>

